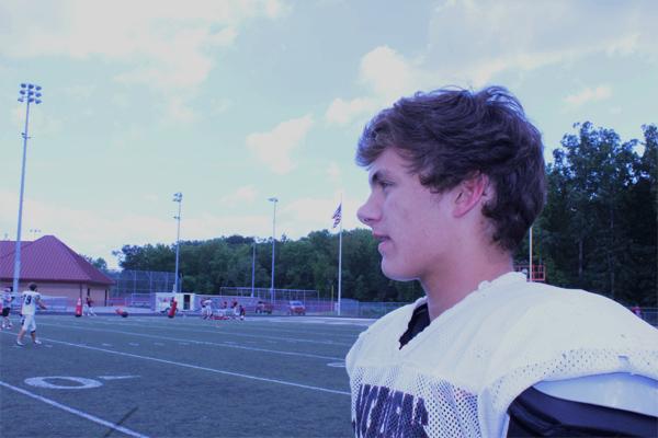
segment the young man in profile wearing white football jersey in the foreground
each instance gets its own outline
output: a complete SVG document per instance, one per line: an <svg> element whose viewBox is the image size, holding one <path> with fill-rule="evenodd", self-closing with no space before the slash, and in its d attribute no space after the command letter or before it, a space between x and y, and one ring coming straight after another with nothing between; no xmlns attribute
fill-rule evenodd
<svg viewBox="0 0 658 438"><path fill-rule="evenodd" d="M367 124L356 162L371 185L358 216L379 241L382 272L418 280L426 292L375 322L348 354L358 437L591 430L564 417L592 406L580 394L556 410L549 389L532 392L547 381L593 385L605 405L613 399L603 395L606 387L580 378L644 376L654 383L647 379L643 390L657 395L658 331L601 296L513 273L513 251L542 210L545 181L541 135L507 90L401 99ZM523 404L529 396L532 408ZM611 404L602 408L626 413ZM645 407L638 422L653 418ZM608 414L590 417L599 427Z"/></svg>

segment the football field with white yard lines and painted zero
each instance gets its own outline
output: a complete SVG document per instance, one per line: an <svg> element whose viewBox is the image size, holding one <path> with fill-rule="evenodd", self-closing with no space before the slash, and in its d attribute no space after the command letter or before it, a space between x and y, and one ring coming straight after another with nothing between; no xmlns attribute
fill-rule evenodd
<svg viewBox="0 0 658 438"><path fill-rule="evenodd" d="M348 437L344 356L368 322L37 315L0 332L3 437Z"/></svg>

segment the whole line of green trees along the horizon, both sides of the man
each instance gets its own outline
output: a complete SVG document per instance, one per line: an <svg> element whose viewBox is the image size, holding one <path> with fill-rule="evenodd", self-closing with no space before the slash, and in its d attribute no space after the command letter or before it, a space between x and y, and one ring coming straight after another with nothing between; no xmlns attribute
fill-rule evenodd
<svg viewBox="0 0 658 438"><path fill-rule="evenodd" d="M575 125L546 168L547 204L533 227L533 263L546 281L581 288L628 306L657 306L658 128L622 141L612 129ZM343 231L342 296L361 301L411 301L417 281L399 283L379 269L377 243L365 229ZM336 297L338 235L328 230L275 242L274 284ZM124 245L123 269L173 272L175 245ZM230 235L180 243L183 290L218 293L220 287L270 287L272 241ZM514 260L527 264L529 238ZM100 260L95 262L101 263ZM104 262L104 261L102 261Z"/></svg>

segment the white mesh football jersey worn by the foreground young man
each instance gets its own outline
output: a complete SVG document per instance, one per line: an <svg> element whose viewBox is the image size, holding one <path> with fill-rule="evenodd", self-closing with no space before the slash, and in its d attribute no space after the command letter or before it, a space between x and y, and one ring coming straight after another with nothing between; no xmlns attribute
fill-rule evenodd
<svg viewBox="0 0 658 438"><path fill-rule="evenodd" d="M509 273L399 348L413 310L397 309L348 353L356 437L501 437L526 388L608 372L658 380L658 330L595 293Z"/></svg>

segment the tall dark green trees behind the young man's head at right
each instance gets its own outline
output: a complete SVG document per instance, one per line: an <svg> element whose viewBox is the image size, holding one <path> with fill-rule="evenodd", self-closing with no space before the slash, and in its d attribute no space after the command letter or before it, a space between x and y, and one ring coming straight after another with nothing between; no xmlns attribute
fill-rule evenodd
<svg viewBox="0 0 658 438"><path fill-rule="evenodd" d="M612 129L575 126L578 134L565 136L563 148L554 151L547 206L537 221L549 280L624 302L646 302L655 296L655 275L647 283L634 260L656 253L656 239L646 240L655 235L656 217L655 198L648 196L655 186L650 159L639 158L636 140L622 142ZM645 127L644 146L645 155L655 153L655 127ZM638 226L646 231L644 241L634 238ZM634 286L638 275L645 278L642 289Z"/></svg>

